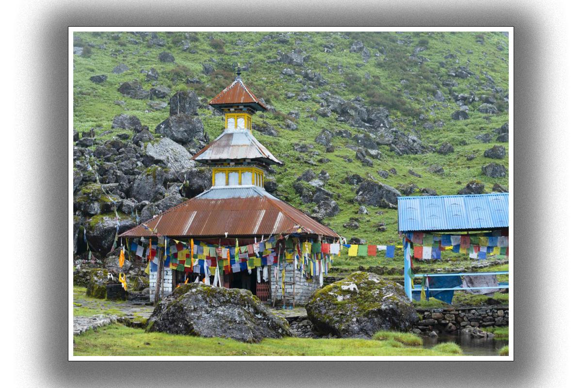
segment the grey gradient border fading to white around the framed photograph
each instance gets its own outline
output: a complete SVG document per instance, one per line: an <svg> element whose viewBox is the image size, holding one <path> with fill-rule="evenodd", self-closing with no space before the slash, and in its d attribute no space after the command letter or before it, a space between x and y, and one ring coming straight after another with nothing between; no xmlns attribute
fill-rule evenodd
<svg viewBox="0 0 582 388"><path fill-rule="evenodd" d="M565 172L556 169L566 147L559 88L565 43L561 2L526 1L62 1L19 2L13 191L15 243L29 241L34 260L10 314L15 337L14 386L333 386L545 387L565 386L566 328L552 336L535 316L566 314L553 300L558 268L542 262L544 247L563 231L565 208L546 207ZM68 26L514 26L515 252L514 362L68 362ZM562 55L562 56L560 56ZM11 76L9 74L9 76ZM543 107L543 109L540 109ZM551 131L553 136L547 136ZM532 152L532 150L538 152ZM545 173L537 173L543 170ZM34 232L31 233L31 225ZM532 244L531 241L535 241ZM563 258L565 260L565 258ZM30 270L15 261L16 270ZM539 274L545 272L544 277ZM528 287L531 282L536 287ZM523 290L523 291L520 291ZM553 289L553 290L552 290ZM544 307L542 311L542 307ZM528 321L534 319L534 324ZM196 379L193 381L193 377Z"/></svg>

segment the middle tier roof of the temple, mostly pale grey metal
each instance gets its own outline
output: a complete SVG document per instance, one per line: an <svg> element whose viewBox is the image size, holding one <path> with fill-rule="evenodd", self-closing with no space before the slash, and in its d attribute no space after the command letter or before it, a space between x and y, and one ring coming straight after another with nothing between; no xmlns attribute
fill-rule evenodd
<svg viewBox="0 0 582 388"><path fill-rule="evenodd" d="M226 129L215 140L194 154L192 159L202 163L261 159L268 164L282 164L246 129Z"/></svg>

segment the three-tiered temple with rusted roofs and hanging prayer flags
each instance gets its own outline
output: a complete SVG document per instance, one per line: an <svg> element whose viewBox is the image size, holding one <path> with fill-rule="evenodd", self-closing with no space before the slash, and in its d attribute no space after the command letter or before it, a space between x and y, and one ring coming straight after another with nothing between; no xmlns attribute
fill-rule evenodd
<svg viewBox="0 0 582 388"><path fill-rule="evenodd" d="M304 304L333 258L321 243L340 236L265 191L265 170L282 163L253 136L253 115L267 108L240 69L209 105L223 113L224 131L193 159L212 169L211 188L120 237L146 245L152 301L199 280L272 304Z"/></svg>

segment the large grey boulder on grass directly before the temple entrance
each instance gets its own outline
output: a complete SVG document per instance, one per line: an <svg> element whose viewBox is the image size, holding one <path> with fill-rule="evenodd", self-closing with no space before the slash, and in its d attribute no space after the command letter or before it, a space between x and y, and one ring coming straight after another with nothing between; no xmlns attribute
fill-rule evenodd
<svg viewBox="0 0 582 388"><path fill-rule="evenodd" d="M225 337L256 343L291 336L289 323L249 290L186 284L155 307L147 332Z"/></svg>

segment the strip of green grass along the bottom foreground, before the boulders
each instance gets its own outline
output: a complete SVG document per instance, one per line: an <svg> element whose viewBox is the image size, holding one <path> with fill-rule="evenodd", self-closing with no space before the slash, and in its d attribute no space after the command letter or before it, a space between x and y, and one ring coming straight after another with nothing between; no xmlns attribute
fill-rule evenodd
<svg viewBox="0 0 582 388"><path fill-rule="evenodd" d="M113 324L74 337L74 355L459 355L453 347L391 346L392 341L286 337L247 344L232 339L145 333Z"/></svg>

